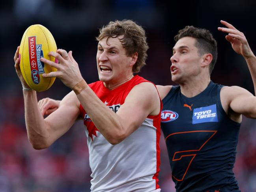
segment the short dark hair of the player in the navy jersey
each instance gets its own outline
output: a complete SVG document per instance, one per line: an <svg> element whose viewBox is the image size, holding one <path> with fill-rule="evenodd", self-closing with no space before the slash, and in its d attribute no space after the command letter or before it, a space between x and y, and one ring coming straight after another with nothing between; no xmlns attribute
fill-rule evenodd
<svg viewBox="0 0 256 192"><path fill-rule="evenodd" d="M193 37L196 39L195 47L198 48L200 55L210 53L213 56L213 60L209 65L209 73L213 71L214 65L217 61L217 41L213 38L211 32L207 29L196 28L194 26L185 26L185 28L179 30L175 35L174 41L177 42L182 37Z"/></svg>

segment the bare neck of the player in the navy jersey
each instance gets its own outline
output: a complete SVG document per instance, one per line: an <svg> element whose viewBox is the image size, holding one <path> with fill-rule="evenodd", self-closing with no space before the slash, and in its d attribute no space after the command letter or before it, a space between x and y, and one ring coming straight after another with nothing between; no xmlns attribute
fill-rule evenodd
<svg viewBox="0 0 256 192"><path fill-rule="evenodd" d="M186 97L194 97L204 91L209 85L211 79L209 78L194 78L179 84L181 93Z"/></svg>

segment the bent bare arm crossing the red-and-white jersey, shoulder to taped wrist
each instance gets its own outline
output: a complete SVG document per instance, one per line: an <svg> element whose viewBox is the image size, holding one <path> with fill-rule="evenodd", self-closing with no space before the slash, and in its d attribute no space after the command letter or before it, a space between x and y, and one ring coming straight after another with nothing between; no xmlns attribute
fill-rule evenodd
<svg viewBox="0 0 256 192"><path fill-rule="evenodd" d="M148 115L159 114L161 108L157 89L149 82L131 89L117 113L108 108L88 86L77 98L94 125L111 144L118 144L127 138Z"/></svg>

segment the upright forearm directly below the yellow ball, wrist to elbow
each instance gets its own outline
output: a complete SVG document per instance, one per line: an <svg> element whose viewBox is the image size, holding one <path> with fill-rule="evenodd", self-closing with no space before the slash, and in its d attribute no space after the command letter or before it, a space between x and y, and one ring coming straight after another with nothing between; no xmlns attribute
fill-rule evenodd
<svg viewBox="0 0 256 192"><path fill-rule="evenodd" d="M36 91L23 91L28 139L35 149L48 147L49 133L37 105Z"/></svg>

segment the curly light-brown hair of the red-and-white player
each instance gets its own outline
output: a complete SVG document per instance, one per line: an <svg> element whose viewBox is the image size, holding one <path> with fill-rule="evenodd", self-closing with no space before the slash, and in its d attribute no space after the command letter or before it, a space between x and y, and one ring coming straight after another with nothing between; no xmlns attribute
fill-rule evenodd
<svg viewBox="0 0 256 192"><path fill-rule="evenodd" d="M122 38L118 36L123 35ZM138 59L133 65L133 73L138 73L140 69L146 65L148 43L146 41L145 30L142 26L136 24L132 20L110 21L106 26L99 30L99 36L96 37L100 41L107 37L118 37L126 50L126 55L131 56L135 52L138 53Z"/></svg>

